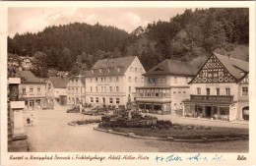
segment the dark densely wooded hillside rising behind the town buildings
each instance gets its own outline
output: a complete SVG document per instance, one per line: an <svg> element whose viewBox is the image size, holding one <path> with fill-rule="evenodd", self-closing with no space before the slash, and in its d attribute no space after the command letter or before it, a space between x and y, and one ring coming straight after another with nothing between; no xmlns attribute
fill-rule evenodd
<svg viewBox="0 0 256 166"><path fill-rule="evenodd" d="M249 10L245 8L186 10L169 22L138 29L129 34L99 24L48 27L8 37L8 52L34 56L39 51L45 68L61 71L90 69L98 59L134 55L146 70L166 58L189 61L198 67L214 51L249 60Z"/></svg>

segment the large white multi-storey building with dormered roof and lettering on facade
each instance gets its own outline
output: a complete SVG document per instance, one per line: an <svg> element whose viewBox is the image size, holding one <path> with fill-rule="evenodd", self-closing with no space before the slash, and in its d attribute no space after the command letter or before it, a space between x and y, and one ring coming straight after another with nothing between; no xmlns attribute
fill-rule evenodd
<svg viewBox="0 0 256 166"><path fill-rule="evenodd" d="M136 86L143 85L145 69L138 57L98 60L86 76L86 101L103 105L126 105L136 100Z"/></svg>

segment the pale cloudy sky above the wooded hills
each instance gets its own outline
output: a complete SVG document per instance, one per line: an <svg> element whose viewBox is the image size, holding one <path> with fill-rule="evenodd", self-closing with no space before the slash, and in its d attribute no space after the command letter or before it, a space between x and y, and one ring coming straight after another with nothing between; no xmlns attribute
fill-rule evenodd
<svg viewBox="0 0 256 166"><path fill-rule="evenodd" d="M139 26L147 27L154 21L169 21L185 8L34 8L12 7L8 9L8 35L38 32L48 26L86 23L113 26L133 31Z"/></svg>

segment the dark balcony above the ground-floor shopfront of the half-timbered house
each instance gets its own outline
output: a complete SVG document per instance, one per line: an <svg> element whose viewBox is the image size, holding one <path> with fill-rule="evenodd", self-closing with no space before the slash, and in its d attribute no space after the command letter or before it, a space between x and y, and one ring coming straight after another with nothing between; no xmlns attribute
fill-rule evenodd
<svg viewBox="0 0 256 166"><path fill-rule="evenodd" d="M193 102L232 103L233 95L190 95Z"/></svg>

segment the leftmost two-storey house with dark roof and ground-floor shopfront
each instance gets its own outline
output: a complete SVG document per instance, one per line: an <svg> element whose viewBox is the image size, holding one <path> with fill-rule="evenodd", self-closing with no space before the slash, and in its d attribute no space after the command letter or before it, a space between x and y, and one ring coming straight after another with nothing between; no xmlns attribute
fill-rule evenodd
<svg viewBox="0 0 256 166"><path fill-rule="evenodd" d="M20 100L25 101L26 109L41 109L45 102L45 81L36 78L31 71L19 71L16 77L21 78L19 95Z"/></svg>

